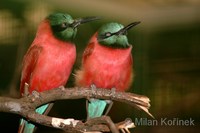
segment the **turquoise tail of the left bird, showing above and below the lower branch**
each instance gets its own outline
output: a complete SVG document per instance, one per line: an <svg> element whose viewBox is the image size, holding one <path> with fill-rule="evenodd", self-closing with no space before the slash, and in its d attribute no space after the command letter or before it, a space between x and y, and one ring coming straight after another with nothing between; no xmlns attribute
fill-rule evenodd
<svg viewBox="0 0 200 133"><path fill-rule="evenodd" d="M45 104L39 108L36 109L36 112L39 114L47 114L50 111L50 108L52 108L53 103ZM25 119L20 120L19 130L18 133L33 133L35 130L35 125L26 121Z"/></svg>

